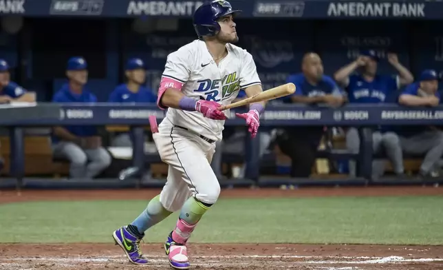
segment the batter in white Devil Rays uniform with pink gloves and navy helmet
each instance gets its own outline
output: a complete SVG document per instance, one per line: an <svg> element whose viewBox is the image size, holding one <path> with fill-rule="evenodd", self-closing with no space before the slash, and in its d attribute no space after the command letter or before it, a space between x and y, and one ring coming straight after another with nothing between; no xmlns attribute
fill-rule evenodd
<svg viewBox="0 0 443 270"><path fill-rule="evenodd" d="M226 115L240 89L248 96L262 92L250 53L235 45L239 38L233 21L240 10L227 1L204 3L195 10L195 40L169 54L158 90L158 106L166 117L153 127L160 157L169 165L160 195L130 225L114 231L129 262L147 264L140 250L145 231L180 210L177 225L164 243L174 269L188 269L186 243L199 220L217 201L220 186L210 161L216 141L222 140ZM259 128L264 103L251 103L244 118L252 137ZM152 128L152 127L151 127Z"/></svg>

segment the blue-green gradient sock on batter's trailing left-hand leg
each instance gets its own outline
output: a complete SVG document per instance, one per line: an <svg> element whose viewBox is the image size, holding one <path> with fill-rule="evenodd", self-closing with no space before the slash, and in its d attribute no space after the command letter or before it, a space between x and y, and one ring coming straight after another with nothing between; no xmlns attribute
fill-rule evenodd
<svg viewBox="0 0 443 270"><path fill-rule="evenodd" d="M162 203L160 203L160 195L158 195L148 203L148 207L131 225L136 226L138 232L143 234L144 231L153 227L153 225L164 220L171 214L172 212L164 209Z"/></svg>

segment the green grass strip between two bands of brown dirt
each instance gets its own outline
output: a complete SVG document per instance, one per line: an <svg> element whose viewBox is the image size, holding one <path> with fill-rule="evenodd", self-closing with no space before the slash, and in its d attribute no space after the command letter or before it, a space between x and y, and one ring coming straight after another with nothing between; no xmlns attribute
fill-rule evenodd
<svg viewBox="0 0 443 270"><path fill-rule="evenodd" d="M142 200L0 205L0 242L111 242L147 205ZM223 199L193 242L443 244L443 196ZM162 242L177 213L147 231Z"/></svg>

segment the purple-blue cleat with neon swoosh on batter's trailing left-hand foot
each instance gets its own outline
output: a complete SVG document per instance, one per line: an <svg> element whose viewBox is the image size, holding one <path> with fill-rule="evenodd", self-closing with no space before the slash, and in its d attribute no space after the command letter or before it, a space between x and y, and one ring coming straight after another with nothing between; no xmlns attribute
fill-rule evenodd
<svg viewBox="0 0 443 270"><path fill-rule="evenodd" d="M140 241L142 238L133 236L127 231L127 227L121 227L117 231L114 231L112 236L114 237L114 241L116 241L116 245L119 245L123 251L125 251L129 262L133 264L148 263L147 258L144 258L142 250L140 249Z"/></svg>

